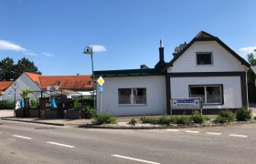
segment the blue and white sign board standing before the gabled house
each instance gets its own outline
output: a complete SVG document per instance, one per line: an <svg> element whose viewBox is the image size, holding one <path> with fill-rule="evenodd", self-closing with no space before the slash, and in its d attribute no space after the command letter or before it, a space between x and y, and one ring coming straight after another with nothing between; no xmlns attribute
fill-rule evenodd
<svg viewBox="0 0 256 164"><path fill-rule="evenodd" d="M172 109L196 109L201 108L200 97L171 98Z"/></svg>

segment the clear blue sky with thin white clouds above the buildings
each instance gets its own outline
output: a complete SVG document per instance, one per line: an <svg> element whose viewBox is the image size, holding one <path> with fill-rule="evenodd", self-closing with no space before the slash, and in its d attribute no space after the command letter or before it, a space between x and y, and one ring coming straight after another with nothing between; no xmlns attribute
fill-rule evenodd
<svg viewBox="0 0 256 164"><path fill-rule="evenodd" d="M0 0L0 59L33 61L43 75L155 67L199 31L240 56L256 48L255 0Z"/></svg>

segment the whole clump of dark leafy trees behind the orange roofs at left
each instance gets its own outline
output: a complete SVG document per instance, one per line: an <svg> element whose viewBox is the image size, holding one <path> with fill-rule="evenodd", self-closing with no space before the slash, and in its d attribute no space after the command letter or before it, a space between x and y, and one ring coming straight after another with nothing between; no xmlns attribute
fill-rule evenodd
<svg viewBox="0 0 256 164"><path fill-rule="evenodd" d="M35 74L42 74L38 71L34 62L29 61L26 57L18 60L17 64L10 57L6 57L0 61L0 81L1 80L16 80L24 72L30 72Z"/></svg>

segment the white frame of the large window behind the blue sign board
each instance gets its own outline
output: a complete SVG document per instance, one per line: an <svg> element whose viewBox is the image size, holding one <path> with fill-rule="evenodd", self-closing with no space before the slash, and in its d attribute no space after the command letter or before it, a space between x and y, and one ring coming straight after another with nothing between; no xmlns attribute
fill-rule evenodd
<svg viewBox="0 0 256 164"><path fill-rule="evenodd" d="M203 105L223 105L224 104L224 94L223 94L223 85L189 85L188 86L188 93L189 97L192 97L191 95L191 87L204 87L205 92L205 102L203 102ZM220 102L219 103L208 103L208 97L207 97L207 87L219 87L219 94L220 94Z"/></svg>

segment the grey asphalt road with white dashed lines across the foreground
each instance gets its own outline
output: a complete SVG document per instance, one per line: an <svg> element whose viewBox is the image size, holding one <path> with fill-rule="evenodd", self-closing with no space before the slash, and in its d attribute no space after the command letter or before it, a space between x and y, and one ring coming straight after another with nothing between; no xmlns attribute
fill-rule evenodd
<svg viewBox="0 0 256 164"><path fill-rule="evenodd" d="M0 120L0 163L255 163L255 128L87 129Z"/></svg>

